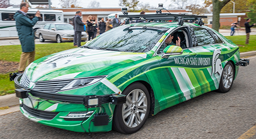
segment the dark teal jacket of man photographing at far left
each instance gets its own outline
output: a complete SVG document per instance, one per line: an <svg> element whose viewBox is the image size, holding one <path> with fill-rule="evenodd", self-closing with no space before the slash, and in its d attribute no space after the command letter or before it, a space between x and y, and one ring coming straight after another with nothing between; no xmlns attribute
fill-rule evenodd
<svg viewBox="0 0 256 139"><path fill-rule="evenodd" d="M19 41L21 41L22 52L35 51L33 26L35 26L38 21L38 17L30 19L27 16L24 16L21 11L17 11L14 14L14 19L16 21Z"/></svg>

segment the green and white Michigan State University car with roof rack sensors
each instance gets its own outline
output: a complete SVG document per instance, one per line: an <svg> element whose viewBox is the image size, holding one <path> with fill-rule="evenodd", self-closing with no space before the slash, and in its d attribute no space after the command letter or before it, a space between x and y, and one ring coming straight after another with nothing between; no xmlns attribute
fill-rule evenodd
<svg viewBox="0 0 256 139"><path fill-rule="evenodd" d="M166 46L170 34L182 48ZM134 133L165 108L228 92L241 62L238 46L209 27L132 23L37 59L14 82L29 120L76 132Z"/></svg>

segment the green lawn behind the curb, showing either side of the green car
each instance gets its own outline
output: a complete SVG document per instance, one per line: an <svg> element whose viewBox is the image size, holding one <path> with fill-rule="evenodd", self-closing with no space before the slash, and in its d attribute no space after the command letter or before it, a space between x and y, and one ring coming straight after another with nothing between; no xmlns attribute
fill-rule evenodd
<svg viewBox="0 0 256 139"><path fill-rule="evenodd" d="M237 44L240 52L256 51L256 35L250 36L249 44L245 44L245 36L227 36L226 38ZM36 44L36 59L71 48L74 48L73 43ZM0 53L0 60L19 62L21 46L0 46ZM8 93L14 93L14 82L9 81L9 73L0 74L0 96Z"/></svg>

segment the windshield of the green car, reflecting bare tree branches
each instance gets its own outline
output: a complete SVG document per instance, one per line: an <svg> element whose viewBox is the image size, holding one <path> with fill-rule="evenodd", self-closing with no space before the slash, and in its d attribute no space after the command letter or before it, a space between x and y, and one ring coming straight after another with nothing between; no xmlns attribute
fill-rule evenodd
<svg viewBox="0 0 256 139"><path fill-rule="evenodd" d="M148 52L168 28L120 26L85 44L87 48L122 52Z"/></svg>

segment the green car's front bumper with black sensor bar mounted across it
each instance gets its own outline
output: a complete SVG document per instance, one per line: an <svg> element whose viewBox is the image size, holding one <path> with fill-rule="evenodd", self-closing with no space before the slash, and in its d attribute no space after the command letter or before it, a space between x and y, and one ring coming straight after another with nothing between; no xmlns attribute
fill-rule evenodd
<svg viewBox="0 0 256 139"><path fill-rule="evenodd" d="M119 94L83 96L37 91L21 86L21 77L14 78L20 110L30 120L43 125L75 132L110 131L115 105L126 101L126 96ZM81 112L86 113L82 118L68 117L70 113Z"/></svg>

